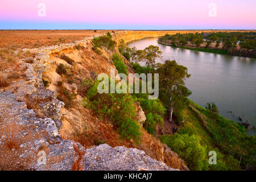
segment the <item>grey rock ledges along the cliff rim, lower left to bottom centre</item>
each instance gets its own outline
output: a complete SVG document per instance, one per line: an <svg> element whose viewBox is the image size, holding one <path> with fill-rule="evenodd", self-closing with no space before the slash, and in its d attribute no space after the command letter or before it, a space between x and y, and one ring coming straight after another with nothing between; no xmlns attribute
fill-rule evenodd
<svg viewBox="0 0 256 182"><path fill-rule="evenodd" d="M18 149L14 149L18 155L17 163L26 163L26 169L71 170L79 150L82 152L80 170L175 170L163 162L151 159L144 151L136 148L112 148L108 144L101 144L85 149L77 142L61 139L51 118L36 117L34 111L27 109L24 102L16 101L15 94L11 92L2 92L0 97L0 115L5 116L1 118L1 127L14 123L18 128L26 128L16 132L16 142L21 142L19 140L22 138L25 140L19 143ZM28 133L30 136L24 137ZM1 134L0 142L3 144L8 140L8 134ZM1 152L1 155L4 154L5 152ZM6 157L9 158L1 156L1 159Z"/></svg>

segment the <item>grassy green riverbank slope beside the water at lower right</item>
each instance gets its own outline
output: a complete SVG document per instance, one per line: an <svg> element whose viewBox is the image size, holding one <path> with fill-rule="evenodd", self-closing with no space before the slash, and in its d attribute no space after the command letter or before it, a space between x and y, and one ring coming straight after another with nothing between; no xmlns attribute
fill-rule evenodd
<svg viewBox="0 0 256 182"><path fill-rule="evenodd" d="M184 114L187 122L179 133L196 134L207 144L208 151L217 152L217 165L210 165L209 168L214 170L255 169L255 137L246 135L244 126L218 114L214 119L207 119L210 115L208 109L192 101L189 102L198 113L186 109L189 111Z"/></svg>

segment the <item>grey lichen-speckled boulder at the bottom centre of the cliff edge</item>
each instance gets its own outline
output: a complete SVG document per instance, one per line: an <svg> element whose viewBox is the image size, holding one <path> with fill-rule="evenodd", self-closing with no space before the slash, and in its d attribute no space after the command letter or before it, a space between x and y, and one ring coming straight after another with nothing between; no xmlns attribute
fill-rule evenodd
<svg viewBox="0 0 256 182"><path fill-rule="evenodd" d="M108 144L85 151L84 168L86 170L170 170L165 163L151 159L144 151L137 148L110 147Z"/></svg>

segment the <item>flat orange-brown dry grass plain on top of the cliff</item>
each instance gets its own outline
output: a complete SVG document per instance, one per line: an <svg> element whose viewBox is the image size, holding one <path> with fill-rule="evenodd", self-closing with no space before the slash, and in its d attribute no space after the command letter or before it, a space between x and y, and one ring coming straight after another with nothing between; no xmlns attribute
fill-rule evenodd
<svg viewBox="0 0 256 182"><path fill-rule="evenodd" d="M16 61L29 54L23 48L39 48L71 43L108 30L1 30L0 71L16 65Z"/></svg>

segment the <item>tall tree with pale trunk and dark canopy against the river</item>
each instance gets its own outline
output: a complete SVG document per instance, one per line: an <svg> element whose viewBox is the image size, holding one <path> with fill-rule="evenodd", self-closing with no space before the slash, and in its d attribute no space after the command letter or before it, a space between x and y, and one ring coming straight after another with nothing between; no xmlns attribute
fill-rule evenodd
<svg viewBox="0 0 256 182"><path fill-rule="evenodd" d="M187 104L187 97L191 91L185 87L185 79L189 78L188 69L179 65L176 61L166 60L164 64L158 64L156 72L159 73L159 96L168 106L168 121L172 122L172 113L177 114Z"/></svg>

